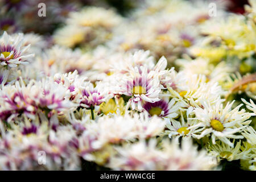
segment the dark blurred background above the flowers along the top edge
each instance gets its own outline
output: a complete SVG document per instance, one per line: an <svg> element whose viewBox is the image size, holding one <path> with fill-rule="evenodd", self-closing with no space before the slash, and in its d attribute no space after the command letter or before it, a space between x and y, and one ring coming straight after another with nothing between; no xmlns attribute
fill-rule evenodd
<svg viewBox="0 0 256 182"><path fill-rule="evenodd" d="M46 17L39 17L38 4L46 4ZM59 28L68 14L79 11L84 6L98 6L115 9L122 16L129 14L144 0L0 0L0 30L9 34L15 32L35 32L49 35ZM213 1L214 2L214 1ZM246 0L224 0L228 11L237 14L245 13Z"/></svg>

